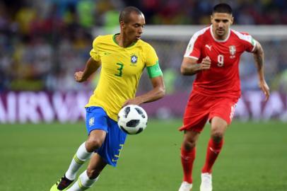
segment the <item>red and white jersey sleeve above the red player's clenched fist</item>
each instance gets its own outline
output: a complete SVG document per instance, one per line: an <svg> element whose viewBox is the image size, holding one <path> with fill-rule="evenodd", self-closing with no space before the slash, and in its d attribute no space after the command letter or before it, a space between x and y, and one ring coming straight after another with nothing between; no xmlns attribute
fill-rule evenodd
<svg viewBox="0 0 287 191"><path fill-rule="evenodd" d="M185 50L184 57L199 59L202 47L202 40L200 38L201 37L197 33L192 36L187 45L187 50Z"/></svg>

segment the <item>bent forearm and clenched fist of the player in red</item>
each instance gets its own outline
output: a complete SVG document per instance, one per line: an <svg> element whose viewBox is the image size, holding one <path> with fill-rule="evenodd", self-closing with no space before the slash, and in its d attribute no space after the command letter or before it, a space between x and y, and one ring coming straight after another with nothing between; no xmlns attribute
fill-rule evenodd
<svg viewBox="0 0 287 191"><path fill-rule="evenodd" d="M197 63L197 59L184 57L182 60L182 66L180 67L180 72L183 75L194 75L197 74L198 71L210 69L210 66L211 59L209 57L202 59L201 63Z"/></svg>

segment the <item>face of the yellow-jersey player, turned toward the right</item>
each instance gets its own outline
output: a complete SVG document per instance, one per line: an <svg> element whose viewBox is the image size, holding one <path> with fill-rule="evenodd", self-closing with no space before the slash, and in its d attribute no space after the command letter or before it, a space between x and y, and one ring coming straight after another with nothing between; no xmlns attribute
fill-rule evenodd
<svg viewBox="0 0 287 191"><path fill-rule="evenodd" d="M123 33L128 41L136 42L141 38L141 34L143 33L144 25L146 21L144 19L144 15L131 13L129 16L129 22L124 23L122 26Z"/></svg>

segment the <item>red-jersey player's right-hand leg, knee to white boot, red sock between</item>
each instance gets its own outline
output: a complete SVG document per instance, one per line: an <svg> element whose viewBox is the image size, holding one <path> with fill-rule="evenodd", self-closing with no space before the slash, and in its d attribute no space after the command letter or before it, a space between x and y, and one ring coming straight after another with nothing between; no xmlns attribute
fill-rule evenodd
<svg viewBox="0 0 287 191"><path fill-rule="evenodd" d="M211 139L206 151L206 161L201 170L200 191L212 190L211 168L223 146L223 136L228 127L227 122L221 117L213 117L211 120Z"/></svg>

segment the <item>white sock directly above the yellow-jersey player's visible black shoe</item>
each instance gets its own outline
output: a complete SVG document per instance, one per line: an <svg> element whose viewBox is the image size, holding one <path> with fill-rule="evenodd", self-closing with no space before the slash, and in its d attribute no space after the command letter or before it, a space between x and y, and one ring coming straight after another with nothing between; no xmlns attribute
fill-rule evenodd
<svg viewBox="0 0 287 191"><path fill-rule="evenodd" d="M92 156L92 153L89 153L86 149L85 142L81 144L80 147L78 147L78 151L74 155L71 164L69 166L69 169L66 171L65 175L66 178L69 180L75 180L76 178L76 173L78 172L78 169L81 168L83 163L85 163L86 160Z"/></svg>

